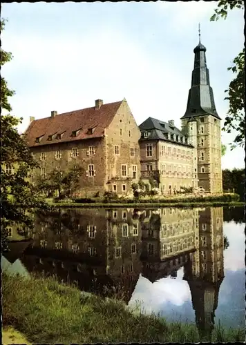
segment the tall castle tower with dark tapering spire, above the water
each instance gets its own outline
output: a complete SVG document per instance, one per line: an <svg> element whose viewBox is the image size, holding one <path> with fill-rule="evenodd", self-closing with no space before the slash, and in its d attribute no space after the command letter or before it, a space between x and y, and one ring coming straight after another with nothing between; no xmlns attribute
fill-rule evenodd
<svg viewBox="0 0 246 345"><path fill-rule="evenodd" d="M193 52L194 68L187 110L181 117L182 131L189 135L190 142L195 146L193 177L197 176L198 186L209 193L222 193L221 119L210 86L206 48L200 43L200 38Z"/></svg>

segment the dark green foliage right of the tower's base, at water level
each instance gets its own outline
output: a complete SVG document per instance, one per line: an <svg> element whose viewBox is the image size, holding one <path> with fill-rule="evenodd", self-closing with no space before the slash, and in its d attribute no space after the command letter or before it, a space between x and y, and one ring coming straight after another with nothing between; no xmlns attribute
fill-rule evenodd
<svg viewBox="0 0 246 345"><path fill-rule="evenodd" d="M228 190L240 195L240 201L244 200L245 195L245 170L244 169L225 169L222 170L223 190Z"/></svg>

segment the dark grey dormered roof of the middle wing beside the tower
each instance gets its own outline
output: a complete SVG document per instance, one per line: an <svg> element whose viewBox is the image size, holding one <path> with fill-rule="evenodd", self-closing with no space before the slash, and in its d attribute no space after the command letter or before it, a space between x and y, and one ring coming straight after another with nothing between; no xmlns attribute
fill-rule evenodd
<svg viewBox="0 0 246 345"><path fill-rule="evenodd" d="M176 126L172 126L168 122L160 121L158 119L153 119L153 117L149 117L146 119L142 124L139 126L140 131L144 132L145 130L149 132L149 136L147 140L165 140L171 141L175 144L185 145L193 147L190 144L177 142L176 140L168 139L167 134L170 133L171 135L180 135L180 137L187 138L181 130L179 130ZM141 140L146 138L142 137Z"/></svg>

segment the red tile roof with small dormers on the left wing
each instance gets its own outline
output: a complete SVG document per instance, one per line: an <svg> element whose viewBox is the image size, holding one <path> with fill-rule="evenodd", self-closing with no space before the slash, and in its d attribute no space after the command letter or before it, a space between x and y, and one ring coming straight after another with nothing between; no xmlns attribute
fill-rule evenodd
<svg viewBox="0 0 246 345"><path fill-rule="evenodd" d="M28 126L24 133L28 146L42 146L66 141L75 141L81 139L89 139L103 137L104 129L107 128L122 101L103 104L100 109L94 107L82 110L65 112L55 117L45 117L44 119L34 120ZM79 131L77 137L72 137L72 132ZM88 134L89 128L95 128L93 134ZM57 139L56 135L61 134L61 139ZM55 135L56 134L56 135ZM40 142L35 142L37 137L43 136ZM48 140L50 135L55 135L52 140Z"/></svg>

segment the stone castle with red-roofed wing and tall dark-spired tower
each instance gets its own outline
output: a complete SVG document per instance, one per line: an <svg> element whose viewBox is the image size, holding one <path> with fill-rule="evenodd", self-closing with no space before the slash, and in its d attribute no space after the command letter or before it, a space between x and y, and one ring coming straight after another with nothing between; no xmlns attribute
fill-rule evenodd
<svg viewBox="0 0 246 345"><path fill-rule="evenodd" d="M39 175L48 177L54 169L62 172L81 166L78 194L82 196L106 190L126 195L132 193L133 183L140 179L149 183L151 178L158 181L163 195L182 187L222 193L221 119L200 39L193 52L181 130L173 120L153 117L138 126L126 99L108 104L97 99L91 108L59 115L52 111L44 119L30 117L25 137L40 162L32 182Z"/></svg>

